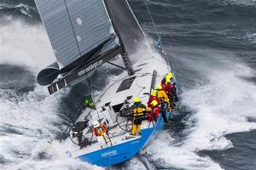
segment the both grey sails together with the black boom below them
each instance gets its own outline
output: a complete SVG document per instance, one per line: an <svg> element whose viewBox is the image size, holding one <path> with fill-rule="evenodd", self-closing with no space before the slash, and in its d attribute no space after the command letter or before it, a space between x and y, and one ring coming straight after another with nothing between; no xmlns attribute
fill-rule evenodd
<svg viewBox="0 0 256 170"><path fill-rule="evenodd" d="M126 0L35 0L57 62L38 73L53 94L121 54L128 56L145 36Z"/></svg>

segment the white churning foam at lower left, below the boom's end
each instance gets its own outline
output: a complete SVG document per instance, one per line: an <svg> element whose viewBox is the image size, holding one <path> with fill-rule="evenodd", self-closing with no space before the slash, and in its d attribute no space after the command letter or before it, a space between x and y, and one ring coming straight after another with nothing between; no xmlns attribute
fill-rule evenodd
<svg viewBox="0 0 256 170"><path fill-rule="evenodd" d="M9 98L12 93L13 98ZM48 142L60 130L57 96L49 96L42 87L22 96L0 91L0 153L3 169L99 169L68 158L58 141ZM45 158L40 155L45 155Z"/></svg>

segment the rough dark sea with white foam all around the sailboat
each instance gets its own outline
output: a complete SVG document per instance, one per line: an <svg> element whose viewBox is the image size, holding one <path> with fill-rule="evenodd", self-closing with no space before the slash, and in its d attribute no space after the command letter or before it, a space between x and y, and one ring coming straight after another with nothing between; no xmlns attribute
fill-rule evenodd
<svg viewBox="0 0 256 170"><path fill-rule="evenodd" d="M150 0L157 31L145 2L130 3L162 38L181 102L145 156L111 169L256 169L256 2ZM0 35L0 168L102 169L63 153L60 128L83 109L84 86L49 96L36 83L55 58L32 0L0 1Z"/></svg>

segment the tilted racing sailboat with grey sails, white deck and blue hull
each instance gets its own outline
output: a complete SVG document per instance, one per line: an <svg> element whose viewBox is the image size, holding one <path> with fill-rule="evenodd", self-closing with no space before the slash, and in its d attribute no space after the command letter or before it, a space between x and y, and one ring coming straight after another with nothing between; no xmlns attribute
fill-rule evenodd
<svg viewBox="0 0 256 170"><path fill-rule="evenodd" d="M38 73L38 83L48 86L49 94L72 86L92 75L96 68L120 56L125 71L70 128L68 155L91 164L108 167L131 159L164 127L162 116L144 120L141 135L131 136L129 108L138 96L143 103L165 76L172 71L159 54L139 59L147 38L127 0L35 0L48 33L56 62ZM160 50L160 52L162 52ZM155 56L154 56L155 55ZM131 56L138 59L131 63ZM164 107L166 110L166 105ZM166 110L167 117L172 113ZM92 133L92 122L108 127L105 144Z"/></svg>

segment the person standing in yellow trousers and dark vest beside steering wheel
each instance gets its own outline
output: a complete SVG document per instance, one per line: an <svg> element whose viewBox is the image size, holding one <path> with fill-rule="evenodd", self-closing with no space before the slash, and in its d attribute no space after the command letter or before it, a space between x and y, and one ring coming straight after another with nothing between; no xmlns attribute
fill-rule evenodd
<svg viewBox="0 0 256 170"><path fill-rule="evenodd" d="M131 105L131 111L133 112L133 123L130 134L133 136L135 136L136 133L141 135L141 125L143 122L143 116L147 111L150 111L150 109L146 105L143 105L141 99L136 97L134 99L134 104Z"/></svg>

